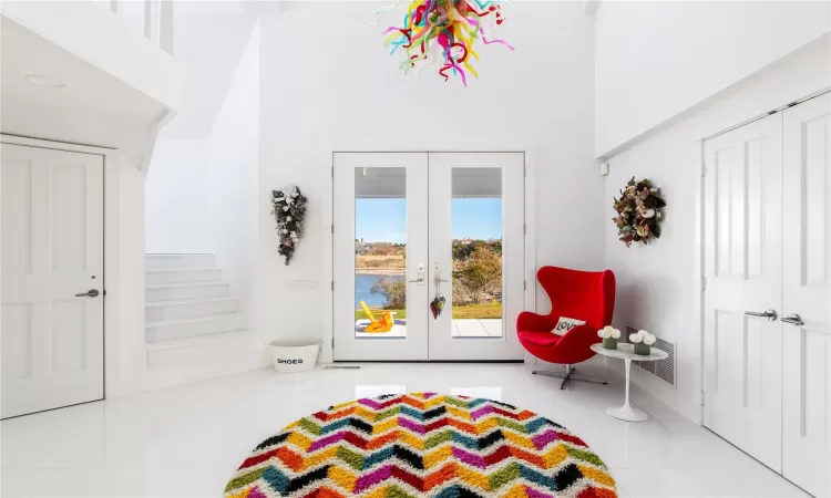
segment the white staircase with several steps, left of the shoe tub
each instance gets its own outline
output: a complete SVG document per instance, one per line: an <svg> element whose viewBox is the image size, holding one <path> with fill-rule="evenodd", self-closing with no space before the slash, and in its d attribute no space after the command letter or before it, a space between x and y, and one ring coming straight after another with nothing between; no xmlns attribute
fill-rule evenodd
<svg viewBox="0 0 831 498"><path fill-rule="evenodd" d="M145 282L148 344L245 331L214 255L147 255Z"/></svg>

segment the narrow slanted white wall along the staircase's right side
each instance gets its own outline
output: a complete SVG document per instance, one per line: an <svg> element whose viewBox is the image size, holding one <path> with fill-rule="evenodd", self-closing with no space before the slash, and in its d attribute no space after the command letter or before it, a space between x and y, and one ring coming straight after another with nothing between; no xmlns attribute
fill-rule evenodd
<svg viewBox="0 0 831 498"><path fill-rule="evenodd" d="M234 73L207 147L209 245L250 317L258 229L259 29L255 27ZM250 321L249 321L250 323Z"/></svg>

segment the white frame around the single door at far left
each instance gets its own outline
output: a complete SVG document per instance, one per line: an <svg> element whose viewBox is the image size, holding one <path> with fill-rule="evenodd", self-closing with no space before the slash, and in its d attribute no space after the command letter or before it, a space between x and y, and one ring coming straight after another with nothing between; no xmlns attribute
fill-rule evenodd
<svg viewBox="0 0 831 498"><path fill-rule="evenodd" d="M100 155L104 159L104 274L101 291L104 294L104 400L119 393L119 320L121 278L119 269L119 151L89 145L50 142L38 138L0 134L3 144L49 148L73 153ZM113 216L114 215L114 216ZM142 341L143 342L143 341Z"/></svg>

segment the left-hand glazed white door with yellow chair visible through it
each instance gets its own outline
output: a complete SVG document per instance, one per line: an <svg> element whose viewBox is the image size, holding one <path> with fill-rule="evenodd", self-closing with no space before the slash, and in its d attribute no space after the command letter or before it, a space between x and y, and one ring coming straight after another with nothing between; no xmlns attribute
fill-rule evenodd
<svg viewBox="0 0 831 498"><path fill-rule="evenodd" d="M336 153L334 165L334 357L424 361L427 153Z"/></svg>

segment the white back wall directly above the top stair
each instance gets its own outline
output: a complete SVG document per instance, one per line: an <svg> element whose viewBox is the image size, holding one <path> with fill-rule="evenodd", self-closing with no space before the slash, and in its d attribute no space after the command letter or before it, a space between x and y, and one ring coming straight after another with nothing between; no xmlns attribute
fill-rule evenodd
<svg viewBox="0 0 831 498"><path fill-rule="evenodd" d="M145 187L148 253L213 252L207 139L160 138Z"/></svg>

